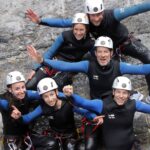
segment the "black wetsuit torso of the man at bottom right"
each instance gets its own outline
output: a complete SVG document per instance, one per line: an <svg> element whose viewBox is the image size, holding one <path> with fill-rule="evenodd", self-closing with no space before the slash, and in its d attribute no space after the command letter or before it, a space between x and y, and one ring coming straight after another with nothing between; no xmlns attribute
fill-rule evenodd
<svg viewBox="0 0 150 150"><path fill-rule="evenodd" d="M112 98L109 98L103 101L103 104L102 113L105 114L105 117L102 133L106 149L131 150L134 143L135 101L128 100L125 105L118 106Z"/></svg>

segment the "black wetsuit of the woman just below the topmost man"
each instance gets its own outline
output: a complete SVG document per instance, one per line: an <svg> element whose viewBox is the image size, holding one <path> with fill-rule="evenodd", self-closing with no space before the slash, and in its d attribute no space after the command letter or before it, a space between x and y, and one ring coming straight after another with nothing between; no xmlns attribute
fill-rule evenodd
<svg viewBox="0 0 150 150"><path fill-rule="evenodd" d="M53 49L49 49L47 52L45 52L44 58L52 59L55 56L59 60L77 62L82 60L83 56L88 51L91 51L94 47L94 40L92 40L88 34L81 40L77 40L73 34L73 31L69 30L62 32L61 38L63 42L60 41L60 47L54 48L55 51L53 51ZM57 47L57 43L59 43L59 40L53 43L52 48ZM51 51L53 51L53 53ZM56 76L55 73L51 73L51 68L38 68L34 77L27 82L27 89L35 90L38 81L48 76L53 77L55 79L55 81L59 85L59 91L61 91L64 85L72 83L72 73L61 72L57 73Z"/></svg>

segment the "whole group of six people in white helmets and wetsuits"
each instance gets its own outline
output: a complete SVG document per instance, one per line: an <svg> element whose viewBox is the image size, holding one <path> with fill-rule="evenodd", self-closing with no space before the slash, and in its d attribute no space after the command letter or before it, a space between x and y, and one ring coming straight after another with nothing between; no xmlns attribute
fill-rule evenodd
<svg viewBox="0 0 150 150"><path fill-rule="evenodd" d="M134 113L150 113L150 105L131 99L131 81L122 75L145 75L150 92L150 52L120 21L149 10L150 2L107 10L103 0L86 0L85 13L72 19L41 19L28 9L26 16L34 23L72 28L43 56L27 46L36 62L27 82L19 71L7 74L7 91L0 95L4 149L131 150ZM118 53L144 64L121 62ZM74 94L72 78L78 72L89 79L91 99ZM83 143L74 112L84 117ZM30 124L40 116L47 117L49 128L39 134Z"/></svg>

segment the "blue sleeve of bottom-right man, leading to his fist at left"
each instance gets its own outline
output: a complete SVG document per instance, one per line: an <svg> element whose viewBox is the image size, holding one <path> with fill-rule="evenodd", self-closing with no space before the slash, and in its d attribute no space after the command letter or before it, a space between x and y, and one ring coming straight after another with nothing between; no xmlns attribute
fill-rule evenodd
<svg viewBox="0 0 150 150"><path fill-rule="evenodd" d="M84 109L87 109L89 111L93 111L96 113L101 113L103 110L103 102L100 99L94 99L94 100L88 100L86 98L83 98L77 94L72 95L72 101L73 104L82 107Z"/></svg>

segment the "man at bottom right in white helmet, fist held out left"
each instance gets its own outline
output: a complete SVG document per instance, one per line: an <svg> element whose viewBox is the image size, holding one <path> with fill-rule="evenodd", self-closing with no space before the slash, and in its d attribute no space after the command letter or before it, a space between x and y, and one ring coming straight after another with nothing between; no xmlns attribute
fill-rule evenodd
<svg viewBox="0 0 150 150"><path fill-rule="evenodd" d="M65 86L64 94L71 96L71 102L80 108L95 112L95 122L102 124L103 145L106 150L131 150L134 143L133 118L136 111L150 114L150 105L140 100L131 100L132 84L127 77L115 78L112 96L102 100L89 100L73 93L72 86ZM99 122L100 119L100 122ZM97 139L100 143L100 139Z"/></svg>

